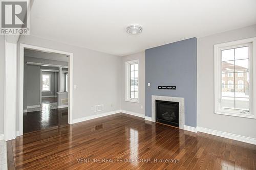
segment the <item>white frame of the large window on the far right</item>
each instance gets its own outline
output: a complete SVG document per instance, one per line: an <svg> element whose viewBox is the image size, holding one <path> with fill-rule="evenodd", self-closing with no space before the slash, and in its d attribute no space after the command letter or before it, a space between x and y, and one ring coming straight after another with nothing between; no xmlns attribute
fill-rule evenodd
<svg viewBox="0 0 256 170"><path fill-rule="evenodd" d="M221 51L229 48L249 46L249 112L238 109L222 108L222 59ZM256 37L214 45L215 62L215 114L256 119ZM245 114L246 112L246 114Z"/></svg>

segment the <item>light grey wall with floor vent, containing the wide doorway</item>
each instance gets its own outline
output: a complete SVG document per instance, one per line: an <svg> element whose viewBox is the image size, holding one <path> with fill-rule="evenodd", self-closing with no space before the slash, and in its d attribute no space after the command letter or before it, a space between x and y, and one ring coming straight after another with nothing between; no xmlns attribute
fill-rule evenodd
<svg viewBox="0 0 256 170"><path fill-rule="evenodd" d="M73 53L73 119L121 109L120 57L34 36L22 36L18 43ZM104 111L91 110L99 104Z"/></svg>

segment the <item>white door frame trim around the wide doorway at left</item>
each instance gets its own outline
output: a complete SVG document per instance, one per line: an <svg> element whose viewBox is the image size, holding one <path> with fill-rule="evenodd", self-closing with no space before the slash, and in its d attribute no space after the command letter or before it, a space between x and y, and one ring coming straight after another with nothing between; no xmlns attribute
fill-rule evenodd
<svg viewBox="0 0 256 170"><path fill-rule="evenodd" d="M19 105L18 105L18 123L19 123L19 134L23 135L23 91L24 91L24 48L30 50L37 50L50 53L59 53L69 56L69 107L68 107L68 124L72 124L73 116L73 53L53 50L50 48L44 48L40 46L34 46L29 44L19 44Z"/></svg>

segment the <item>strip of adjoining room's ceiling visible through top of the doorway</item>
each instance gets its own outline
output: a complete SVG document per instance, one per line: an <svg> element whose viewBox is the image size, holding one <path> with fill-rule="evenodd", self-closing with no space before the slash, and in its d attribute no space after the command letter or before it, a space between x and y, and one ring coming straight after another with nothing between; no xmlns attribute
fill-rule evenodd
<svg viewBox="0 0 256 170"><path fill-rule="evenodd" d="M34 57L34 58L69 62L69 57L67 57L66 55L63 55L63 54L47 53L47 52L41 52L41 51L36 51L36 50L29 50L29 49L26 49L26 48L24 49L24 56L25 57Z"/></svg>

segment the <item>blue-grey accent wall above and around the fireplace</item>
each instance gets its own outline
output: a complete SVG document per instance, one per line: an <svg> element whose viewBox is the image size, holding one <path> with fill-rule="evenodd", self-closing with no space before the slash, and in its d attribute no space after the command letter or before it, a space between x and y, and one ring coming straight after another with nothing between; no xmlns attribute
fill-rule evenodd
<svg viewBox="0 0 256 170"><path fill-rule="evenodd" d="M185 125L197 127L197 38L147 49L145 85L146 116L151 117L151 95L185 98ZM177 89L157 89L159 85Z"/></svg>

